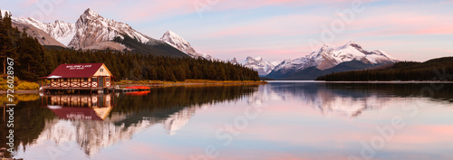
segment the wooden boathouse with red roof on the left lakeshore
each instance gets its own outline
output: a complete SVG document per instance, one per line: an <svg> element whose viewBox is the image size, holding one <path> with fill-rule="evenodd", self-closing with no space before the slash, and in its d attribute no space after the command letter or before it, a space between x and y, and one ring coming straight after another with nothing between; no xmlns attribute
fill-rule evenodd
<svg viewBox="0 0 453 160"><path fill-rule="evenodd" d="M49 76L42 77L42 87L46 91L102 92L113 89L113 79L103 63L61 64Z"/></svg>

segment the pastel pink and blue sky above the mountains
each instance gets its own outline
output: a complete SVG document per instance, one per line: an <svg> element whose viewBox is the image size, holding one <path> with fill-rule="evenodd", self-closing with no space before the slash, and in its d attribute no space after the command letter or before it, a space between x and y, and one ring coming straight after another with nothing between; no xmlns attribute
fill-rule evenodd
<svg viewBox="0 0 453 160"><path fill-rule="evenodd" d="M211 2L211 3L209 3ZM86 8L104 17L130 24L159 39L168 30L188 40L197 52L220 59L262 56L265 61L300 58L322 40L323 26L342 22L344 28L329 43L358 42L366 50L383 50L395 58L426 61L453 51L453 1L362 0L361 12L350 23L352 0L152 0L124 2L26 0L2 2L0 9L14 16L41 12L43 22L75 23ZM5 5L4 5L5 4ZM427 50L432 49L432 50Z"/></svg>

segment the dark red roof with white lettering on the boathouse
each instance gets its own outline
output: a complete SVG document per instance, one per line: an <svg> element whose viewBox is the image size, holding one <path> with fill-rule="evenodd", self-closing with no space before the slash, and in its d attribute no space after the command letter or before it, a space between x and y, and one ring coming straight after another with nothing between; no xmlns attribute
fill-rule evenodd
<svg viewBox="0 0 453 160"><path fill-rule="evenodd" d="M49 76L43 79L89 78L101 68L103 63L60 64Z"/></svg>

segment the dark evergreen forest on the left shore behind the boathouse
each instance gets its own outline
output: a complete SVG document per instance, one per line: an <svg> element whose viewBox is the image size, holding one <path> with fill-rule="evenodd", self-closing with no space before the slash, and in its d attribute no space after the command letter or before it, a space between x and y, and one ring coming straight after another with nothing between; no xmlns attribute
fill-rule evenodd
<svg viewBox="0 0 453 160"><path fill-rule="evenodd" d="M260 80L256 71L224 61L42 46L25 31L12 27L8 14L0 18L0 46L2 71L5 74L6 58L13 58L14 75L21 80L39 80L59 64L98 62L105 63L115 80Z"/></svg>

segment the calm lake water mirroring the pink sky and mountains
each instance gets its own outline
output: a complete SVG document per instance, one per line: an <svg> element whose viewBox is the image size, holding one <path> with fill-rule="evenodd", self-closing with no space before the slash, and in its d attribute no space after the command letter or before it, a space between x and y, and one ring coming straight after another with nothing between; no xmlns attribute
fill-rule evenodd
<svg viewBox="0 0 453 160"><path fill-rule="evenodd" d="M14 156L27 160L453 159L453 84L275 81L16 97Z"/></svg>

